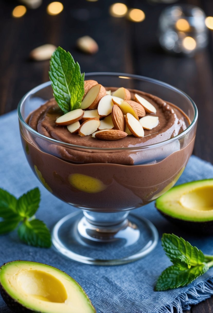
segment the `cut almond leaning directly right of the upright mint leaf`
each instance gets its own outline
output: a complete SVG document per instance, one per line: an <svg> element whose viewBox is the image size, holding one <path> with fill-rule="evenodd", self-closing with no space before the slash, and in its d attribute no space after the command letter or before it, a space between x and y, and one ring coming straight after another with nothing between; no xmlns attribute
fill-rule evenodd
<svg viewBox="0 0 213 313"><path fill-rule="evenodd" d="M103 96L106 95L106 89L100 85L94 85L87 92L86 96L82 100L81 109L97 109L98 102L101 100Z"/></svg>

